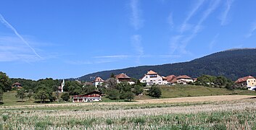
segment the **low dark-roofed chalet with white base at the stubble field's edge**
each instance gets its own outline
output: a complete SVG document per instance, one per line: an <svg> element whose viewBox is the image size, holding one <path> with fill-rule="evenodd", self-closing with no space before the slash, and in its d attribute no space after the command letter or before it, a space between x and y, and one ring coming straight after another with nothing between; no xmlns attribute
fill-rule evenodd
<svg viewBox="0 0 256 130"><path fill-rule="evenodd" d="M74 95L72 101L73 103L102 101L102 93L94 91L87 93L86 95Z"/></svg>

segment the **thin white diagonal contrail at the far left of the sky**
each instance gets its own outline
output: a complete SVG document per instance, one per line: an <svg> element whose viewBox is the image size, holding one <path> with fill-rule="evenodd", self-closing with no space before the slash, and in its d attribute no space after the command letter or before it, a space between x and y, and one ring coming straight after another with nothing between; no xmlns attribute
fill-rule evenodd
<svg viewBox="0 0 256 130"><path fill-rule="evenodd" d="M0 14L0 21L6 25L7 27L9 27L13 32L15 32L15 34L17 35L17 37L19 37L23 43L25 43L26 45L28 45L28 47L33 51L33 53L36 54L36 56L38 56L38 58L42 58L41 56L38 55L38 53L36 53L35 49L32 48L28 42L26 40L24 40L24 38L22 38L22 36L17 32L17 30L15 30L15 27L12 27L12 25L9 24L9 22L7 22L7 20L4 19L4 17Z"/></svg>

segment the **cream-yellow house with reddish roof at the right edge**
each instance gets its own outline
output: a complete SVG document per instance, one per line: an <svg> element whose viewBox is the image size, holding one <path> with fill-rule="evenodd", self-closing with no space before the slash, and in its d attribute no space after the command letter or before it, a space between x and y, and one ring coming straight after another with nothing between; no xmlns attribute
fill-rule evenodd
<svg viewBox="0 0 256 130"><path fill-rule="evenodd" d="M255 90L256 79L252 76L242 77L237 79L235 84L239 87L247 87L248 90Z"/></svg>

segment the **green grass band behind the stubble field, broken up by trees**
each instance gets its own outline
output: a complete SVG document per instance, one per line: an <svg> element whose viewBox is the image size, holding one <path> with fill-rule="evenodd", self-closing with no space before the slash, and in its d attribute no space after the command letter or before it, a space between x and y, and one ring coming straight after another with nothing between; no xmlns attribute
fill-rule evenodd
<svg viewBox="0 0 256 130"><path fill-rule="evenodd" d="M255 91L249 90L227 90L225 88L216 87L202 87L194 85L174 85L174 86L161 86L162 96L160 98L174 98L174 97L198 97L198 96L210 96L210 95L256 95ZM16 91L4 92L3 105L33 105L36 100L31 97L25 97L21 102L20 99L15 97ZM148 95L136 96L135 100L149 100L154 99ZM107 97L102 97L102 102L124 102L124 100L110 100ZM63 103L63 102L62 102ZM67 102L70 103L70 102ZM1 105L0 105L1 106Z"/></svg>

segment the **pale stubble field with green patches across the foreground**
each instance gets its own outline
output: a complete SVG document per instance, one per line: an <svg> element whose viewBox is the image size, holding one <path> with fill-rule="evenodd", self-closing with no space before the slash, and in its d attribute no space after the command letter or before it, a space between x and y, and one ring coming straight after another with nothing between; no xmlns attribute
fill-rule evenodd
<svg viewBox="0 0 256 130"><path fill-rule="evenodd" d="M255 96L0 107L0 129L256 129Z"/></svg>

